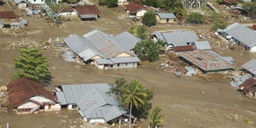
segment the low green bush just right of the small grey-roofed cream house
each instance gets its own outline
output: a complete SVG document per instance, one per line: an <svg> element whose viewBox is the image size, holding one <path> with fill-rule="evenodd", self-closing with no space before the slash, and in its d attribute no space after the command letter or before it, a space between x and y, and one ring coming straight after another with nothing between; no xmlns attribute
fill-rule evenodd
<svg viewBox="0 0 256 128"><path fill-rule="evenodd" d="M203 24L205 18L204 15L198 12L190 12L187 16L187 20L190 24Z"/></svg>

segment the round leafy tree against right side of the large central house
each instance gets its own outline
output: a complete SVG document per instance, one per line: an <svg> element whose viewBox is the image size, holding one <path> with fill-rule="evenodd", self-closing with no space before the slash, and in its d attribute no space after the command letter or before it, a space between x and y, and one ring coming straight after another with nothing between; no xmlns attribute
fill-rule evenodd
<svg viewBox="0 0 256 128"><path fill-rule="evenodd" d="M151 39L143 39L135 46L135 53L140 60L156 61L161 54L161 45Z"/></svg>

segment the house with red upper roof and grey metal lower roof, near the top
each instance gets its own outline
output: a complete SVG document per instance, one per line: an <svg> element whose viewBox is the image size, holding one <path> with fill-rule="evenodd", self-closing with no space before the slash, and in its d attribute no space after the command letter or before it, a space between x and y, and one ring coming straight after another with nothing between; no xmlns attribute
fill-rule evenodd
<svg viewBox="0 0 256 128"><path fill-rule="evenodd" d="M96 5L75 6L74 9L81 21L97 20L100 14Z"/></svg>

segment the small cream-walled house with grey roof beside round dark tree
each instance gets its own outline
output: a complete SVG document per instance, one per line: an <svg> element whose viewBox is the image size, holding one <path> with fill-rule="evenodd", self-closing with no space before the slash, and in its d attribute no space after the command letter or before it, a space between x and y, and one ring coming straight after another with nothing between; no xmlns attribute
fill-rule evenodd
<svg viewBox="0 0 256 128"><path fill-rule="evenodd" d="M176 20L173 13L156 13L156 20L158 23L170 23Z"/></svg>

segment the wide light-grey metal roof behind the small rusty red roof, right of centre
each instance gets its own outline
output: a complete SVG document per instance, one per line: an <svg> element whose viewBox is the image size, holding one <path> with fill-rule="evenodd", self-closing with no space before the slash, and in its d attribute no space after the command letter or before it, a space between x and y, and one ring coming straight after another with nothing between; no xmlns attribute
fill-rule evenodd
<svg viewBox="0 0 256 128"><path fill-rule="evenodd" d="M199 39L194 31L183 32L183 31L177 30L175 32L164 32L164 33L161 33L161 35L169 45L174 45L174 46L181 46L181 45L183 46L186 43L195 42ZM159 37L161 38L161 36Z"/></svg>

